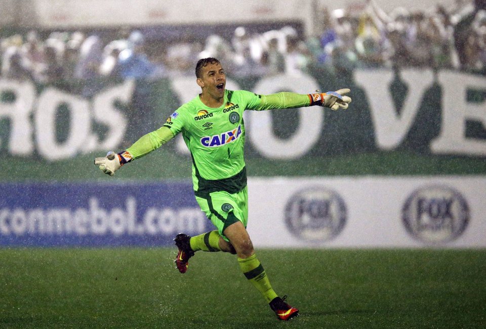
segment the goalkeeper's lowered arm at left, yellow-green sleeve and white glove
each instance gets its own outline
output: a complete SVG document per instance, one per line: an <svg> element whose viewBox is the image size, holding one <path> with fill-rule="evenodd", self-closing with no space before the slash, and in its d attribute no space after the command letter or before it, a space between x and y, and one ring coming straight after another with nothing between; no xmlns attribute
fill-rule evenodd
<svg viewBox="0 0 486 329"><path fill-rule="evenodd" d="M120 153L108 152L106 157L96 158L95 165L100 166L105 174L113 176L115 171L132 160L158 149L162 144L167 143L174 137L174 133L168 127L159 129L143 135L131 147Z"/></svg>

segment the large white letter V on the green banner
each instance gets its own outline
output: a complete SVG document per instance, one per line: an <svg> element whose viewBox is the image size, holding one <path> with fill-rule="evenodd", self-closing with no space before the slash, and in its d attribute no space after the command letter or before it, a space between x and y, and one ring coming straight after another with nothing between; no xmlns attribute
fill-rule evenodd
<svg viewBox="0 0 486 329"><path fill-rule="evenodd" d="M382 150L393 150L403 142L419 110L424 91L433 82L430 70L400 71L408 92L398 114L389 90L393 78L390 70L356 71L354 74L354 81L366 90L369 98L376 144Z"/></svg>

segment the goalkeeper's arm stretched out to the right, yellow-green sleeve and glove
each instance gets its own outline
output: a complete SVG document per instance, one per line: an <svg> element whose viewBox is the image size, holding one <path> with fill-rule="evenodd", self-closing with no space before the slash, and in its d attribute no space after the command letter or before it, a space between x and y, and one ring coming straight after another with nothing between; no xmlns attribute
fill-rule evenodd
<svg viewBox="0 0 486 329"><path fill-rule="evenodd" d="M262 101L251 110L271 110L271 109L291 109L319 105L329 107L333 110L339 108L347 109L351 98L344 96L349 89L339 89L338 91L328 91L323 93L309 93L303 95L295 92L278 92L271 95L262 95Z"/></svg>

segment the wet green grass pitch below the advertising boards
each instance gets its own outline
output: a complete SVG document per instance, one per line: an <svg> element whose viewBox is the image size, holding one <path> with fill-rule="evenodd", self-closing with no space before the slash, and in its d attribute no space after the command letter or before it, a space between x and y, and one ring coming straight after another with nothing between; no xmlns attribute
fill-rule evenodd
<svg viewBox="0 0 486 329"><path fill-rule="evenodd" d="M486 327L486 250L257 250L300 316L278 321L235 256L0 249L2 328Z"/></svg>

